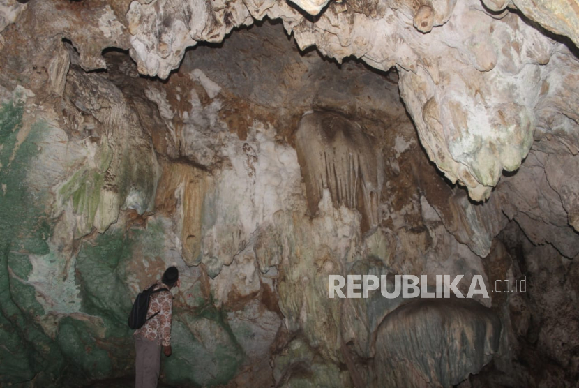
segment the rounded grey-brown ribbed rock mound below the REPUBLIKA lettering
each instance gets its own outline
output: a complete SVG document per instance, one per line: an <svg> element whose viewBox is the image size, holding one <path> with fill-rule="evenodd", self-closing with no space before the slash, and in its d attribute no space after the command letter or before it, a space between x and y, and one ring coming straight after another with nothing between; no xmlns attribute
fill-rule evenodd
<svg viewBox="0 0 579 388"><path fill-rule="evenodd" d="M377 332L378 381L388 387L449 387L499 350L500 321L460 299L421 300L390 313Z"/></svg>

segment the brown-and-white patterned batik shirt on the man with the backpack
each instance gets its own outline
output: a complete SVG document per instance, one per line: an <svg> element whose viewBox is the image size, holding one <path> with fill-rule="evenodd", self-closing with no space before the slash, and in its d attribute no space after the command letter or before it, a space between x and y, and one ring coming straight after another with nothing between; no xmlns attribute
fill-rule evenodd
<svg viewBox="0 0 579 388"><path fill-rule="evenodd" d="M158 290L159 288L167 288L167 285L161 283L160 281L153 283L155 288L153 290ZM151 285L153 285L151 284ZM149 285L147 288L151 287ZM172 320L172 309L173 309L173 295L170 291L156 292L151 295L149 299L149 311L146 313L146 318L151 317L157 311L160 311L150 320L146 321L145 324L135 331L135 336L142 336L149 341L156 341L156 343L169 346L171 344L171 320Z"/></svg>

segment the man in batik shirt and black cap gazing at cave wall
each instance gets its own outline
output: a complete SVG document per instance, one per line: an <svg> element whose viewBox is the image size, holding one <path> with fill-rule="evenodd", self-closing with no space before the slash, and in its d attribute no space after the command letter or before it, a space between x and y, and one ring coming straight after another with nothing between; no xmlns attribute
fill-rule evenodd
<svg viewBox="0 0 579 388"><path fill-rule="evenodd" d="M166 357L171 355L173 296L170 290L180 285L179 269L167 268L161 280L149 287L152 285L155 285L153 290L163 288L166 290L151 295L149 310L146 314L148 320L133 334L137 352L136 388L156 388L159 380L161 347Z"/></svg>

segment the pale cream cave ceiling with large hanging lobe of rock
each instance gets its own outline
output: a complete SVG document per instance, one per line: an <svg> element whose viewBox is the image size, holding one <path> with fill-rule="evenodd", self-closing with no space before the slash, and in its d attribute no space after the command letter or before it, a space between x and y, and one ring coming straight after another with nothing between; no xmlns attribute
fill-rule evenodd
<svg viewBox="0 0 579 388"><path fill-rule="evenodd" d="M3 3L0 29L30 8L22 23L37 44L70 40L84 70L105 68L103 50L117 47L142 75L165 79L188 47L220 43L264 18L281 20L301 50L315 46L338 63L356 57L379 70L396 67L430 160L476 201L488 199L503 171L517 170L533 145L578 151L573 2Z"/></svg>

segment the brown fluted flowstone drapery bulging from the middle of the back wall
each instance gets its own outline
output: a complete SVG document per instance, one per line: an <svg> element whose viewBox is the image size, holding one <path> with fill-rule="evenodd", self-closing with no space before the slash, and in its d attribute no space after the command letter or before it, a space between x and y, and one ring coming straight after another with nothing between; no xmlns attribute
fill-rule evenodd
<svg viewBox="0 0 579 388"><path fill-rule="evenodd" d="M363 230L378 225L383 158L376 140L359 124L333 112L307 112L296 130L296 150L315 215L329 190L334 207L358 209Z"/></svg>

